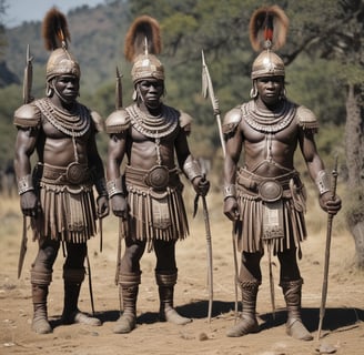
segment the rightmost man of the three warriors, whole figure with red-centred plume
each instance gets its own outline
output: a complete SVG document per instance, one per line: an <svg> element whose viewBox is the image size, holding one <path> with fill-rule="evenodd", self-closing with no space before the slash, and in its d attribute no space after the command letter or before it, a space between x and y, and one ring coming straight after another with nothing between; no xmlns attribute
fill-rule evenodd
<svg viewBox="0 0 364 355"><path fill-rule="evenodd" d="M223 122L224 214L234 222L242 261L237 283L243 311L240 322L228 331L232 337L259 332L256 295L266 247L280 262L286 332L297 339L312 339L301 320L303 278L297 257L302 257L300 243L306 237L306 195L293 165L297 145L317 185L321 207L333 215L341 209L340 197L332 197L328 175L316 150L316 116L286 99L284 62L273 50L284 44L287 26L289 19L276 6L253 13L251 42L254 49L264 47L252 65L251 100L229 111ZM242 150L243 166L239 168Z"/></svg>

